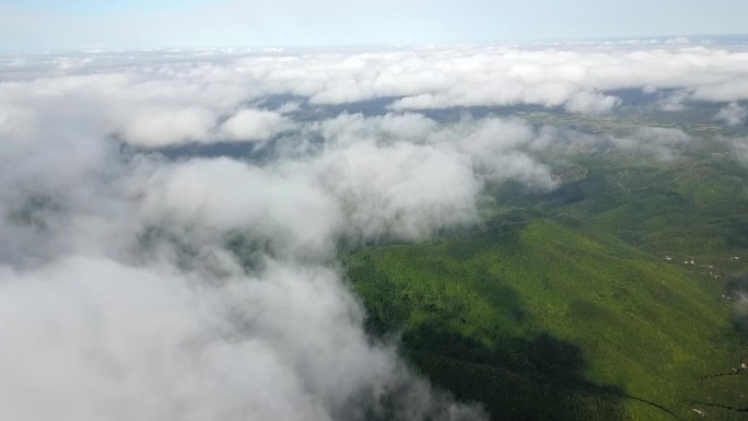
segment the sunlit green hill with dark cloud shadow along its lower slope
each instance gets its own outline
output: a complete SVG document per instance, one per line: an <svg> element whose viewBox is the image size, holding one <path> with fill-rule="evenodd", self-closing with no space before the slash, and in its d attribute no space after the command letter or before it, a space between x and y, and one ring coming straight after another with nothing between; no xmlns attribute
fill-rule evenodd
<svg viewBox="0 0 748 421"><path fill-rule="evenodd" d="M405 329L423 371L496 419L668 419L642 400L683 416L739 398L699 381L736 363L731 305L612 236L541 220L346 264L370 327Z"/></svg>

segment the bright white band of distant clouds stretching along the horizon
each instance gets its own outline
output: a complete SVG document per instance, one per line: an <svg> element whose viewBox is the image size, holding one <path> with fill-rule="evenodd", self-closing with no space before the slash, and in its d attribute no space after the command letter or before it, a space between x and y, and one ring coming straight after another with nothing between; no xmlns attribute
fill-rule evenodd
<svg viewBox="0 0 748 421"><path fill-rule="evenodd" d="M601 114L623 104L610 92L641 89L667 93L662 106L677 110L748 100L746 68L737 49L664 44L24 57L0 63L0 136L33 130L35 113L60 102L145 147L265 140L290 122L268 113L292 115L294 104L385 98L393 110L535 104ZM253 109L272 95L297 102Z"/></svg>

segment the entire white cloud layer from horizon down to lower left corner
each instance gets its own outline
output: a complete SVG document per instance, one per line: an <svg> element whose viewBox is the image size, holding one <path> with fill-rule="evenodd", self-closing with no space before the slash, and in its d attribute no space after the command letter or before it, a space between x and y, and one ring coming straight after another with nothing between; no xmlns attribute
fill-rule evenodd
<svg viewBox="0 0 748 421"><path fill-rule="evenodd" d="M412 109L605 114L624 104L613 90L641 89L733 102L715 118L740 124L746 61L703 47L4 57L0 418L480 418L366 337L338 244L476 223L489 183L553 189L547 151L670 159L691 138ZM335 108L369 100L385 107ZM226 142L253 154L160 152Z"/></svg>

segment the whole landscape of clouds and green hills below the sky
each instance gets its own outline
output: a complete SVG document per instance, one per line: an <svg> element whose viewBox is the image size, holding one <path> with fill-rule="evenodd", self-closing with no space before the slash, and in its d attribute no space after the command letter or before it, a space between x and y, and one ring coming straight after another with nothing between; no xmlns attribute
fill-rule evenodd
<svg viewBox="0 0 748 421"><path fill-rule="evenodd" d="M0 418L741 420L741 39L0 56Z"/></svg>

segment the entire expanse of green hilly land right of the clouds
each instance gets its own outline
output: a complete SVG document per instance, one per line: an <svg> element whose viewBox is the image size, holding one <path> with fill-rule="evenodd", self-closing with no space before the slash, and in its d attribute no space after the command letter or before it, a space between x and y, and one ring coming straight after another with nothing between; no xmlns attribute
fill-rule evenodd
<svg viewBox="0 0 748 421"><path fill-rule="evenodd" d="M747 174L723 150L577 154L551 194L490 188L480 226L341 250L367 328L495 420L747 418Z"/></svg>

